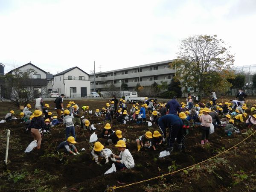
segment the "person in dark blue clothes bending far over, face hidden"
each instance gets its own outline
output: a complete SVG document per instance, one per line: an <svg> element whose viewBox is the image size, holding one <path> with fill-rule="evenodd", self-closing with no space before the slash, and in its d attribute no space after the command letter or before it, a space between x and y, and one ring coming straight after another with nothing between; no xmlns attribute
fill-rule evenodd
<svg viewBox="0 0 256 192"><path fill-rule="evenodd" d="M174 114L168 114L165 116L161 116L157 119L157 125L160 127L163 132L163 137L166 138L166 128L169 128L169 136L167 139L167 149L166 151L173 151L173 144L175 138L177 138L178 150L181 151L182 148L182 126L183 122L179 116Z"/></svg>

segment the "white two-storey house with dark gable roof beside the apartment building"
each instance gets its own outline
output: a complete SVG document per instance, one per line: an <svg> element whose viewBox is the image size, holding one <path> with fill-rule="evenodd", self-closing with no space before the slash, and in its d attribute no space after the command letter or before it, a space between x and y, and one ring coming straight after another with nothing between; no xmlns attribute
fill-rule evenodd
<svg viewBox="0 0 256 192"><path fill-rule="evenodd" d="M52 90L71 98L90 96L89 74L79 67L64 70L53 76Z"/></svg>

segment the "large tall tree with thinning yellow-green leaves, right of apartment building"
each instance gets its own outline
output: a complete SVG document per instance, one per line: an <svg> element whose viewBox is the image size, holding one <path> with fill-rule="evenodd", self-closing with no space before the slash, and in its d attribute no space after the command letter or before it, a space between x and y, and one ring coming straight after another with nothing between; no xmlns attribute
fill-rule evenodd
<svg viewBox="0 0 256 192"><path fill-rule="evenodd" d="M211 89L223 92L232 86L227 79L233 76L234 56L225 46L217 35L195 35L182 40L178 57L171 64L182 86L193 87L199 96Z"/></svg>

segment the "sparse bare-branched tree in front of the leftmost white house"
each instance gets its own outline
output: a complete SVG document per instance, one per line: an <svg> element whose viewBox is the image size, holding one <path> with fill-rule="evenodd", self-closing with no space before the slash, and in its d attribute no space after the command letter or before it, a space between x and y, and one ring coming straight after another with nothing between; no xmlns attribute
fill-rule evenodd
<svg viewBox="0 0 256 192"><path fill-rule="evenodd" d="M33 79L33 69L14 70L12 74L6 74L6 98L18 108L27 105L35 98L46 92L47 79Z"/></svg>

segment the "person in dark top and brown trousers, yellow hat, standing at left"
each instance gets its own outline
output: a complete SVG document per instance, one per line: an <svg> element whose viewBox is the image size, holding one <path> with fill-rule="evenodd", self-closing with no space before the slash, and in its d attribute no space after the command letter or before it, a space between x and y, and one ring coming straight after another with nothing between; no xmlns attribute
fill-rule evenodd
<svg viewBox="0 0 256 192"><path fill-rule="evenodd" d="M28 128L34 138L34 141L37 140L37 149L41 148L42 137L39 129L44 130L44 119L42 118L43 112L40 110L35 110L33 113L34 118L31 120Z"/></svg>

